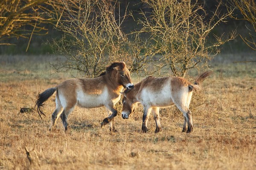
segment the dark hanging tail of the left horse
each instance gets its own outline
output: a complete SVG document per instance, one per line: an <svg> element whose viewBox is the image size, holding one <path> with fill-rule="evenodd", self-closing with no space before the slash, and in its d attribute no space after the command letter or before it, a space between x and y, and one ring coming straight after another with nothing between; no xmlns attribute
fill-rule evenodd
<svg viewBox="0 0 256 170"><path fill-rule="evenodd" d="M42 111L41 107L44 107L44 102L47 101L47 99L49 99L49 97L52 96L52 94L54 94L55 91L57 91L57 87L48 88L46 91L44 91L41 94L38 93L38 99L36 100L35 107L37 106L38 114L41 117L41 119L42 119L41 115L46 116Z"/></svg>

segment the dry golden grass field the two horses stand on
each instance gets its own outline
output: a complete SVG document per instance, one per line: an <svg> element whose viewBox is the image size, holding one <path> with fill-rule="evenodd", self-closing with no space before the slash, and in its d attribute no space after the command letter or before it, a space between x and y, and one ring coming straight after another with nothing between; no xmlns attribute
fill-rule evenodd
<svg viewBox="0 0 256 170"><path fill-rule="evenodd" d="M142 112L115 118L116 133L101 129L105 108L76 107L64 133L58 120L50 132L55 94L42 120L32 108L36 95L70 78L49 76L50 57L1 56L0 169L256 169L256 62L254 54L221 55L209 63L214 77L192 96L194 131L181 133L183 115L175 106L160 111L163 132L142 133ZM134 78L134 83L139 79ZM120 108L119 108L120 109ZM25 146L29 153L26 153Z"/></svg>

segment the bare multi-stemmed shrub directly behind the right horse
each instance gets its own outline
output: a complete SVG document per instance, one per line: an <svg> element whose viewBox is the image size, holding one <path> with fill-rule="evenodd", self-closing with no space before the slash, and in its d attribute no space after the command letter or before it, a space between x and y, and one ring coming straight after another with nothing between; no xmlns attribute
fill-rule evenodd
<svg viewBox="0 0 256 170"><path fill-rule="evenodd" d="M151 35L158 53L163 56L159 67L169 67L174 76L184 77L190 68L207 65L207 61L220 53L221 45L236 37L236 31L229 36L210 34L220 23L227 22L233 12L221 13L221 2L210 14L204 4L197 1L143 2L151 12L141 12L143 28L138 32Z"/></svg>

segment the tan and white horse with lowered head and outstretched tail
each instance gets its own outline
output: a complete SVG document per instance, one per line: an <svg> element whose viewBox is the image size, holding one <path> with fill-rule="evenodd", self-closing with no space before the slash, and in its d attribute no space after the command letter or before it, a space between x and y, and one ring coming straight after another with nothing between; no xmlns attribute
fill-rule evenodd
<svg viewBox="0 0 256 170"><path fill-rule="evenodd" d="M128 119L134 112L134 105L140 102L143 105L143 132L147 132L148 115L151 110L154 113L156 122L155 133L160 132L159 108L176 105L184 115L184 125L182 132L190 133L193 130L192 113L189 104L192 92L200 88L203 82L213 72L206 71L196 78L191 84L183 77L147 77L134 85L133 89L126 89L122 95L122 118ZM187 127L188 125L188 127Z"/></svg>

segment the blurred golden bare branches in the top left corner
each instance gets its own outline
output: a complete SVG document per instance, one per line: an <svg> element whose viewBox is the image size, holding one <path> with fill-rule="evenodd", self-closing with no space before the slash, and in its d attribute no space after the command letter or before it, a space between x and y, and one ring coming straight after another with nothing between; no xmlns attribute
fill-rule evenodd
<svg viewBox="0 0 256 170"><path fill-rule="evenodd" d="M12 37L31 40L33 34L47 34L48 30L43 24L54 24L50 15L59 19L59 11L62 10L58 11L57 8L62 8L60 0L2 0L0 45L13 45L8 41Z"/></svg>

